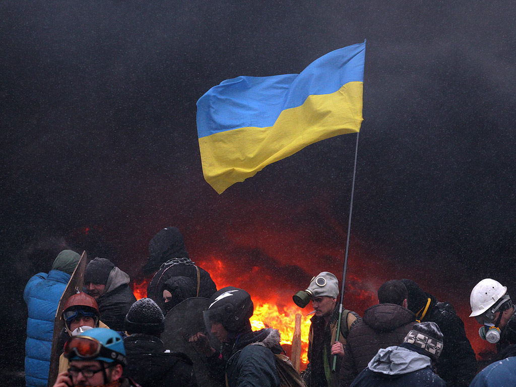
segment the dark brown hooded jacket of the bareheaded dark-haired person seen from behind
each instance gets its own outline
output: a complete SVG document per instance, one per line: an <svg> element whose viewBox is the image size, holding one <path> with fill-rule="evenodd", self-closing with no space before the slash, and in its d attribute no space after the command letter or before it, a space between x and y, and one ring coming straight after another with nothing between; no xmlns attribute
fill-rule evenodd
<svg viewBox="0 0 516 387"><path fill-rule="evenodd" d="M341 386L349 386L379 349L399 345L415 324L416 316L396 304L377 304L349 332L341 368Z"/></svg>

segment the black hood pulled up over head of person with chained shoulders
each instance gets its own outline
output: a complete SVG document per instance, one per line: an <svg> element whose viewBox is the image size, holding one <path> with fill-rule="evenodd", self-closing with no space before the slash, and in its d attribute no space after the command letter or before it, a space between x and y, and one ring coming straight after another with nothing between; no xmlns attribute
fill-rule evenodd
<svg viewBox="0 0 516 387"><path fill-rule="evenodd" d="M175 227L167 227L154 235L149 242L149 259L143 266L143 273L152 274L172 258L189 257L181 232Z"/></svg>

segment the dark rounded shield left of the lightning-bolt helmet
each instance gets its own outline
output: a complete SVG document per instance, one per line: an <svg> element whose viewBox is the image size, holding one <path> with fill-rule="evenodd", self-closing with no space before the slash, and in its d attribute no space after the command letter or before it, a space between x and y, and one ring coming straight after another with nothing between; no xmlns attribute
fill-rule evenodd
<svg viewBox="0 0 516 387"><path fill-rule="evenodd" d="M223 387L222 383L218 383L209 376L206 358L188 341L192 335L206 331L202 312L208 309L208 306L208 299L202 297L188 298L175 305L165 317L165 332L162 334L162 339L166 349L170 349L171 352L185 353L191 359L197 385Z"/></svg>

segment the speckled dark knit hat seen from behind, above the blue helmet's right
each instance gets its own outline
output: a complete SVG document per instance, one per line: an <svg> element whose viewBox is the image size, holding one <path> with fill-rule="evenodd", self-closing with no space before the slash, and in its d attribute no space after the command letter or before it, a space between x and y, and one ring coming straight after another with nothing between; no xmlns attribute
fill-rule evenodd
<svg viewBox="0 0 516 387"><path fill-rule="evenodd" d="M144 333L159 336L165 330L165 317L158 305L150 298L136 301L124 321L127 333Z"/></svg>

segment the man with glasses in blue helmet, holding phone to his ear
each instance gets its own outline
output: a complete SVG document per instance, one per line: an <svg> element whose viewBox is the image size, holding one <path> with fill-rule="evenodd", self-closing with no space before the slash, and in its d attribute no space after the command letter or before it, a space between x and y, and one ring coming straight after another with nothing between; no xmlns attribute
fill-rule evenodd
<svg viewBox="0 0 516 387"><path fill-rule="evenodd" d="M57 376L54 387L140 387L122 377L125 348L122 337L111 329L93 328L70 337L65 356L70 368Z"/></svg>

